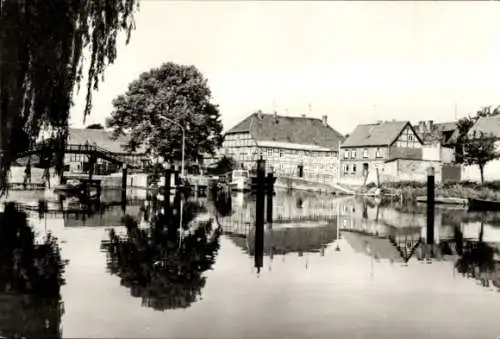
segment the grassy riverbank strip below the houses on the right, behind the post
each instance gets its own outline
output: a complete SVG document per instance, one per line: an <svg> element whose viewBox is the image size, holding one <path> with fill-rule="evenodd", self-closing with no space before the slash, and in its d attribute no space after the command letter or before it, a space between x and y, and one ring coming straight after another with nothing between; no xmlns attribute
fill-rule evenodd
<svg viewBox="0 0 500 339"><path fill-rule="evenodd" d="M399 192L406 201L414 201L418 196L427 195L427 184L420 182L394 182L382 184L382 189L389 192ZM500 201L500 181L492 181L483 185L462 181L436 185L436 196L454 198L476 198Z"/></svg>

